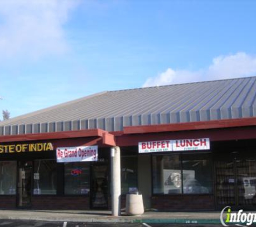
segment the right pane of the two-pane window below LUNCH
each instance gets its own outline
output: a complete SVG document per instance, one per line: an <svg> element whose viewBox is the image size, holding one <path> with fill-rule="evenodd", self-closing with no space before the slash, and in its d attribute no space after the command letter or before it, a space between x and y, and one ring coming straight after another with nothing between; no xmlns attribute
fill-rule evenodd
<svg viewBox="0 0 256 227"><path fill-rule="evenodd" d="M185 154L182 157L184 194L212 193L209 154Z"/></svg>

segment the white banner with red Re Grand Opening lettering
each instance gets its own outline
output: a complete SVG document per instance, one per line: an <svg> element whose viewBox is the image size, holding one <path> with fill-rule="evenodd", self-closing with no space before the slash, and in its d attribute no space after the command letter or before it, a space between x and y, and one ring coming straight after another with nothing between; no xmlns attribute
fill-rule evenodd
<svg viewBox="0 0 256 227"><path fill-rule="evenodd" d="M98 161L98 146L58 147L57 162Z"/></svg>

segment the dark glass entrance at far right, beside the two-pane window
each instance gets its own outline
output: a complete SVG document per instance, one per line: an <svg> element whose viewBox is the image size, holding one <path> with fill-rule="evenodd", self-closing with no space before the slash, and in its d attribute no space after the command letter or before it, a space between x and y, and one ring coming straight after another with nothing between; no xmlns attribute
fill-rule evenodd
<svg viewBox="0 0 256 227"><path fill-rule="evenodd" d="M255 140L218 144L214 153L216 209L255 209ZM228 152L225 152L228 151Z"/></svg>

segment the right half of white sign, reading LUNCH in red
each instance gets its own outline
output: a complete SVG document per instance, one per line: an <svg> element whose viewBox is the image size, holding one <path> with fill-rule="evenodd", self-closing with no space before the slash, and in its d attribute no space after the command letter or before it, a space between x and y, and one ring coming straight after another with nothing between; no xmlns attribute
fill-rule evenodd
<svg viewBox="0 0 256 227"><path fill-rule="evenodd" d="M209 138L172 140L174 151L209 150Z"/></svg>

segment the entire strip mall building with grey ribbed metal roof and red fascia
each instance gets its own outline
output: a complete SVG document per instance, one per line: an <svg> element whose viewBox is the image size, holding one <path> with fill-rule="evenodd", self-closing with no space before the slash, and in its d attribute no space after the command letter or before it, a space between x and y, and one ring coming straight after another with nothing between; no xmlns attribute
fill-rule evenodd
<svg viewBox="0 0 256 227"><path fill-rule="evenodd" d="M0 122L0 208L256 205L256 77L106 91Z"/></svg>

